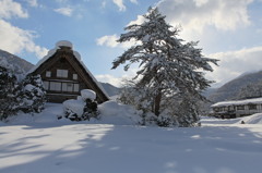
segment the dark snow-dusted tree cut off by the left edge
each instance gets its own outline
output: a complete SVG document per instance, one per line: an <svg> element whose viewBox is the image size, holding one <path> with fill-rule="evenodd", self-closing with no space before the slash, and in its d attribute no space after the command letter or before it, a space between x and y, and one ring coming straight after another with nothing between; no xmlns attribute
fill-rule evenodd
<svg viewBox="0 0 262 173"><path fill-rule="evenodd" d="M15 75L0 66L0 120L7 119L17 110L14 88L16 85Z"/></svg>

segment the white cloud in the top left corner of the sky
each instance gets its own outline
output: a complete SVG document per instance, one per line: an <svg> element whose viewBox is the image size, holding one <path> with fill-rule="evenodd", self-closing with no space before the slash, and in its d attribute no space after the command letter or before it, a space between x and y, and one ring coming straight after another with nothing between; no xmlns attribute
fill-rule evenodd
<svg viewBox="0 0 262 173"><path fill-rule="evenodd" d="M28 17L28 13L22 9L21 4L13 0L0 0L0 18Z"/></svg>

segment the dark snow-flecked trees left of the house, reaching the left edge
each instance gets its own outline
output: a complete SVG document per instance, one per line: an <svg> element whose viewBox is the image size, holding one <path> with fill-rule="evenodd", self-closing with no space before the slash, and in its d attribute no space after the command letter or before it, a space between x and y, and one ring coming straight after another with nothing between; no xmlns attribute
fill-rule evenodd
<svg viewBox="0 0 262 173"><path fill-rule="evenodd" d="M46 91L39 75L27 75L21 82L7 67L0 66L0 120L17 111L40 112L46 102Z"/></svg>

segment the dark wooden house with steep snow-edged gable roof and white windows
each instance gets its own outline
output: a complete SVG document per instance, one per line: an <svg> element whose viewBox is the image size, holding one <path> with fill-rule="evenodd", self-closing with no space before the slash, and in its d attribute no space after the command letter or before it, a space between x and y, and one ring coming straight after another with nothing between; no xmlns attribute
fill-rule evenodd
<svg viewBox="0 0 262 173"><path fill-rule="evenodd" d="M72 50L70 41L59 41L31 71L39 74L44 82L49 102L63 102L76 99L82 89L96 92L98 102L109 98L92 73L81 61L80 54Z"/></svg>

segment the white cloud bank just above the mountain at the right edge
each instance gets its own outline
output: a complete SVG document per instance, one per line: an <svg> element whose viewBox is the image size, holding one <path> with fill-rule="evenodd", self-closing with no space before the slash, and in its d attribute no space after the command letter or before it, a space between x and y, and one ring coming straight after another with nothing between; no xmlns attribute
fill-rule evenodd
<svg viewBox="0 0 262 173"><path fill-rule="evenodd" d="M219 66L213 66L214 72L209 73L206 77L217 83L225 83L245 72L260 71L261 54L262 47L210 54L207 57L219 60Z"/></svg>

